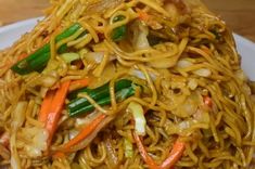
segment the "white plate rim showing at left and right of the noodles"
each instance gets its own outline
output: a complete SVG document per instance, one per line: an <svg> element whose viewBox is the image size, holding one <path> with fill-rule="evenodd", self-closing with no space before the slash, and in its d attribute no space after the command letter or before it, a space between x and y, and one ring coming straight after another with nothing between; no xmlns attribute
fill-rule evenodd
<svg viewBox="0 0 255 169"><path fill-rule="evenodd" d="M10 47L21 35L29 31L42 17L26 20L0 28L0 50ZM242 56L242 68L250 79L255 80L255 43L234 34L238 51Z"/></svg>

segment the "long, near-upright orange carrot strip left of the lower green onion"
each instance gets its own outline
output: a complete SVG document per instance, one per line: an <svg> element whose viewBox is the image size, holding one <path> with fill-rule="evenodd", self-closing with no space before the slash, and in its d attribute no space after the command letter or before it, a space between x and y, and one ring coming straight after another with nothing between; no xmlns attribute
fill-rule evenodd
<svg viewBox="0 0 255 169"><path fill-rule="evenodd" d="M66 94L68 92L69 83L71 81L63 82L60 89L58 89L58 91L55 92L55 95L53 96L51 107L46 121L46 129L49 132L48 145L51 143L53 134L58 128L63 104L65 102Z"/></svg>

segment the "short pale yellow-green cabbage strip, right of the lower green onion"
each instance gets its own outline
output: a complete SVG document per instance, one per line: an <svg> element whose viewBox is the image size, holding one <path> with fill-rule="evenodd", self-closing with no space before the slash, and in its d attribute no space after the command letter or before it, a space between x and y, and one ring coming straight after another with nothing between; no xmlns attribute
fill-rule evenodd
<svg viewBox="0 0 255 169"><path fill-rule="evenodd" d="M139 103L131 102L129 103L128 110L132 113L135 118L135 130L138 135L145 135L146 119L143 114L143 108Z"/></svg>

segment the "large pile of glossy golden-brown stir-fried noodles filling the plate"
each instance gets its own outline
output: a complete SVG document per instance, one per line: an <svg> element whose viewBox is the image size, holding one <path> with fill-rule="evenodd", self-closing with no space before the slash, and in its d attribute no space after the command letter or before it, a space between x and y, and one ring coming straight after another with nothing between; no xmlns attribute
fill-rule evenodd
<svg viewBox="0 0 255 169"><path fill-rule="evenodd" d="M194 0L51 0L46 17L11 48L0 52L0 168L148 168L132 136L137 102L148 113L143 144L162 164L177 138L186 150L175 168L248 168L255 145L254 83L240 67L240 56L226 24ZM141 20L139 12L150 14ZM125 20L113 23L113 17ZM63 62L54 37L73 23L80 23L88 38L73 52L82 54L82 66ZM127 25L126 39L114 42L114 28ZM160 38L150 44L150 36ZM50 42L55 69L25 76L9 65L23 53ZM67 41L71 42L72 41ZM90 53L90 54L87 54ZM93 79L89 88L120 78L136 80L145 94L133 96L79 117L64 108L50 145L60 150L98 114L110 118L91 138L69 154L53 157L47 152L47 130L38 120L49 90L66 80ZM212 107L203 98L212 99ZM202 101L202 102L201 102ZM68 100L66 100L68 103ZM132 156L125 155L125 141Z"/></svg>

